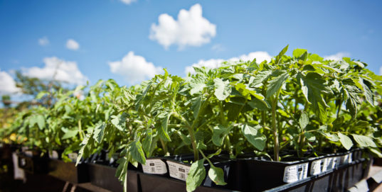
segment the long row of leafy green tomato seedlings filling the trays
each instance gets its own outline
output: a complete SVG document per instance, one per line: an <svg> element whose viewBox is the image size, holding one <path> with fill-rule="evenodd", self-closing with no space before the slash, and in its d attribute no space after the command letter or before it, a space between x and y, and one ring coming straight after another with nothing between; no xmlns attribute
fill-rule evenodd
<svg viewBox="0 0 382 192"><path fill-rule="evenodd" d="M1 135L16 134L11 141L43 152L63 150L66 161L78 152L77 164L102 149L110 157L118 152L116 176L124 188L129 164L175 154L193 154L187 191L206 175L227 184L211 162L221 152L228 159L279 162L361 147L382 157L382 77L364 62L324 60L303 49L287 56L287 47L270 62L194 67L184 78L164 70L136 86L110 79L65 93L41 92L36 99L50 97L53 106L18 114Z"/></svg>

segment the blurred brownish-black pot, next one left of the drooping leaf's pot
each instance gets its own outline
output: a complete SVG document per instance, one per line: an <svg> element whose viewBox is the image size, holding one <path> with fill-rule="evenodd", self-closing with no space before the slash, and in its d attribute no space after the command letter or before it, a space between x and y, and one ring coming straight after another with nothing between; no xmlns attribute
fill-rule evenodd
<svg viewBox="0 0 382 192"><path fill-rule="evenodd" d="M49 175L62 181L70 183L89 182L87 164L84 162L75 166L74 162L63 162L58 159L51 159L48 163Z"/></svg>

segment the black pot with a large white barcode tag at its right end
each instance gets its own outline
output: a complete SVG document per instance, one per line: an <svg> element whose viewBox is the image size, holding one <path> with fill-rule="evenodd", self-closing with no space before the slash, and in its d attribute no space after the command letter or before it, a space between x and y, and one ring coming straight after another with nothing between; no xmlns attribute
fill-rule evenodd
<svg viewBox="0 0 382 192"><path fill-rule="evenodd" d="M243 159L247 167L248 191L264 191L306 179L309 160L287 157L284 162L272 162L263 157Z"/></svg>

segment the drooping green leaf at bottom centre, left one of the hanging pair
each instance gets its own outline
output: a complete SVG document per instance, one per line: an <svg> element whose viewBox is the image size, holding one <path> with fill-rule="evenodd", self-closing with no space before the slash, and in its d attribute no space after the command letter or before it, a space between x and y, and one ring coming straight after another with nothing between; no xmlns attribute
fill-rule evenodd
<svg viewBox="0 0 382 192"><path fill-rule="evenodd" d="M190 167L189 175L186 179L186 189L188 192L195 191L206 178L206 169L204 168L204 159L193 162Z"/></svg>

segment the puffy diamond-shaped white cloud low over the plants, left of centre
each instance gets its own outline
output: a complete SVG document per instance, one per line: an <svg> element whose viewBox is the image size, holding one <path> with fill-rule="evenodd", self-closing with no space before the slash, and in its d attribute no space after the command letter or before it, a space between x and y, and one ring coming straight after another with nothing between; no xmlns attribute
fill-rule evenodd
<svg viewBox="0 0 382 192"><path fill-rule="evenodd" d="M130 83L135 84L145 79L161 73L161 67L156 67L152 62L147 62L144 57L134 55L130 51L122 60L109 62L110 71L114 74L120 74Z"/></svg>

